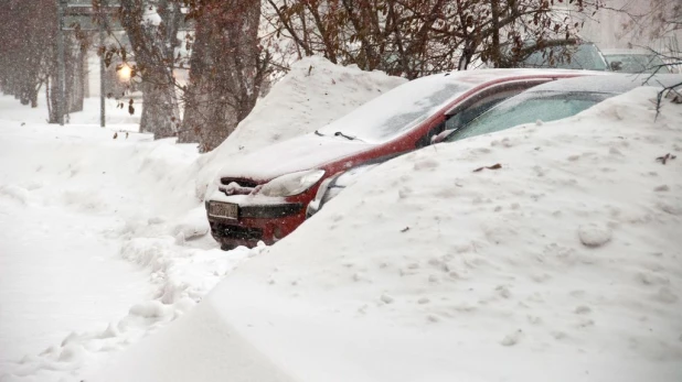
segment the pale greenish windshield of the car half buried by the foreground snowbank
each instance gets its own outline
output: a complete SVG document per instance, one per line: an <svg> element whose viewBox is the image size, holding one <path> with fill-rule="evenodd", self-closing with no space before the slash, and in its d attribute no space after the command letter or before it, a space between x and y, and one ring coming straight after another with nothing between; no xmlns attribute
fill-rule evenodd
<svg viewBox="0 0 682 382"><path fill-rule="evenodd" d="M614 96L609 92L529 91L488 110L445 141L458 141L537 120L548 122L572 117Z"/></svg>

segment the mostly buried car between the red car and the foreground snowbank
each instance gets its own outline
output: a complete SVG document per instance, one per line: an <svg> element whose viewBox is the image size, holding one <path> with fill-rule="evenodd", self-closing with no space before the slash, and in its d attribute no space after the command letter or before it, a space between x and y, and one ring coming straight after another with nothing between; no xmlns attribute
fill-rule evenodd
<svg viewBox="0 0 682 382"><path fill-rule="evenodd" d="M674 86L682 84L682 75L656 75L651 78L630 75L578 77L546 83L525 90L497 105L463 127L449 124L435 137L437 142L455 142L467 138L513 128L537 120L550 122L573 117L608 98L636 87ZM447 123L447 121L446 121ZM385 162L385 161L384 161ZM367 163L327 178L309 204L307 217L317 214L343 189L383 162Z"/></svg>

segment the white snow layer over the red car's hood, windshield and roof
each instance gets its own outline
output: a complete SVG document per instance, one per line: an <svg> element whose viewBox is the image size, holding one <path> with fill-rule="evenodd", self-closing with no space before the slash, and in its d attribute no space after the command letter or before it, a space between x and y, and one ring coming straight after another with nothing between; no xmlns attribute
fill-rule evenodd
<svg viewBox="0 0 682 382"><path fill-rule="evenodd" d="M276 143L257 152L251 151L246 155L235 154L225 161L226 165L219 175L268 181L291 172L313 168L331 160L364 151L370 144L381 144L395 139L478 85L499 78L566 73L574 72L486 69L444 73L414 79L318 129L323 135L333 137L337 132L342 132L367 144L349 142L344 138L326 141L311 134L300 140ZM327 87L327 84L324 86ZM320 110L316 112L319 113Z"/></svg>

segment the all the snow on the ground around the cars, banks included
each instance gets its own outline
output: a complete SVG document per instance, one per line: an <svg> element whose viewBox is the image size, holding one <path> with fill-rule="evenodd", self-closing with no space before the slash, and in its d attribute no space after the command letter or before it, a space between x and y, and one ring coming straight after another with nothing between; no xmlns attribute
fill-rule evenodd
<svg viewBox="0 0 682 382"><path fill-rule="evenodd" d="M96 99L58 128L0 97L0 381L682 380L682 107L654 122L652 89L405 155L277 245L217 249L223 162L401 81L308 58L207 155L113 107L99 129Z"/></svg>

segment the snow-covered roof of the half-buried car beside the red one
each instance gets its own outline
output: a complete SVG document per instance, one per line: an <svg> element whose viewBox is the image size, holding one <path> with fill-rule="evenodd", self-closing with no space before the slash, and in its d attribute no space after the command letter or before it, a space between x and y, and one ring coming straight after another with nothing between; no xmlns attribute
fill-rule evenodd
<svg viewBox="0 0 682 382"><path fill-rule="evenodd" d="M574 77L557 79L533 87L525 92L562 91L562 92L611 92L621 94L638 86L674 86L682 83L682 75L635 75L609 74L605 76Z"/></svg>

